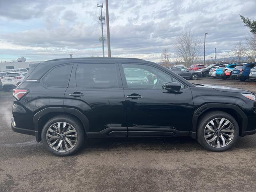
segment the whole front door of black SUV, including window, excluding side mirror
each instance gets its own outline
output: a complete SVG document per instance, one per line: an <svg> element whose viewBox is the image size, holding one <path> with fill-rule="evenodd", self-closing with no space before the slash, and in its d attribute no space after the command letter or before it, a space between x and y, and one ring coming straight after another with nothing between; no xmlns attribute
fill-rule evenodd
<svg viewBox="0 0 256 192"><path fill-rule="evenodd" d="M128 122L128 136L187 135L191 130L193 100L190 87L150 64L120 64ZM179 82L180 92L162 89Z"/></svg>

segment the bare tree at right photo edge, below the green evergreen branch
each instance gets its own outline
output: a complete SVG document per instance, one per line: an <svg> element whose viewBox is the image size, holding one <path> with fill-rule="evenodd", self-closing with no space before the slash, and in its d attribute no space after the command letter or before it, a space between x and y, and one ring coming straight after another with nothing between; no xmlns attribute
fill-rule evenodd
<svg viewBox="0 0 256 192"><path fill-rule="evenodd" d="M248 60L256 60L256 34L252 34L246 38L246 48L244 50L244 56L248 57Z"/></svg>

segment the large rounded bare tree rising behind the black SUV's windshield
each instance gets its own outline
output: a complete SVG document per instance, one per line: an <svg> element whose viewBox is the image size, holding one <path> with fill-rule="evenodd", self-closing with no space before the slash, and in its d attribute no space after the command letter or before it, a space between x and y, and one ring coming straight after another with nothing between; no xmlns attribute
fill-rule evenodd
<svg viewBox="0 0 256 192"><path fill-rule="evenodd" d="M187 66L200 60L202 55L202 39L195 37L193 32L183 32L174 40L174 50L176 55L185 62Z"/></svg>

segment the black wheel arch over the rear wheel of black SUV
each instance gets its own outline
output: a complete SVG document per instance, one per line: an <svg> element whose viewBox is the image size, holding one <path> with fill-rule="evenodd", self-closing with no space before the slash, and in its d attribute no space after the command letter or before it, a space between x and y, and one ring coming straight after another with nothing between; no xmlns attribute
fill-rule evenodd
<svg viewBox="0 0 256 192"><path fill-rule="evenodd" d="M74 108L61 108L61 107L50 107L50 108L44 108L43 110L39 111L34 115L33 122L35 125L35 135L36 135L36 141L41 141L41 132L43 126L46 124L46 122L58 115L69 115L77 120L79 120L83 127L84 132L88 132L89 130L89 120L77 109Z"/></svg>

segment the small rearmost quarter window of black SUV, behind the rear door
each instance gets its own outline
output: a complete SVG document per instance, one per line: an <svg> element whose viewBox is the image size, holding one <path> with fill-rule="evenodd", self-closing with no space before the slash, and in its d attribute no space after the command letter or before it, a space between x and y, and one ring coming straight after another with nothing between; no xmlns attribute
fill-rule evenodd
<svg viewBox="0 0 256 192"><path fill-rule="evenodd" d="M72 70L72 65L53 68L44 78L42 83L52 87L67 87Z"/></svg>

